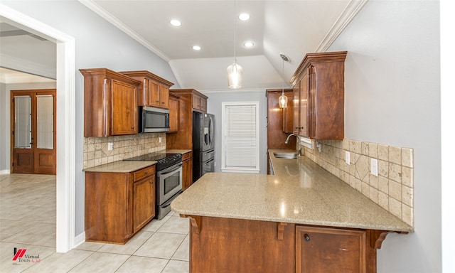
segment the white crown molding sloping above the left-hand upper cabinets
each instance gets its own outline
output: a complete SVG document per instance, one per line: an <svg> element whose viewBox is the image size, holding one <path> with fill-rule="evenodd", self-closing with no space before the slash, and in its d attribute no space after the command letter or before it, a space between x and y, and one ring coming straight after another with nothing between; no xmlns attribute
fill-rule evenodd
<svg viewBox="0 0 455 273"><path fill-rule="evenodd" d="M155 48L154 45L151 45L146 39L144 39L142 36L140 36L138 33L133 31L131 28L129 28L127 25L125 25L122 21L119 21L115 16L107 12L105 9L103 9L100 5L96 4L92 0L78 0L80 1L81 4L84 6L87 6L87 8L91 9L92 11L95 12L95 14L98 14L102 18L105 18L106 21L109 23L112 23L115 27L119 28L121 31L124 33L127 33L128 36L139 42L141 45L144 45L146 48L151 50L151 52L155 53L158 55L160 58L163 60L166 60L166 62L169 62L171 60L168 58L167 55L161 52L158 48Z"/></svg>

